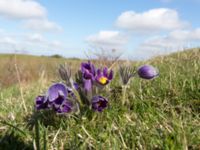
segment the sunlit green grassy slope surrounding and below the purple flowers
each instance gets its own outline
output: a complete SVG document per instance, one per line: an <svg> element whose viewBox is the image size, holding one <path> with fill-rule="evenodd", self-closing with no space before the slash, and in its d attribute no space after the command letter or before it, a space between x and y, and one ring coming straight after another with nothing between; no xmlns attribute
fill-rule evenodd
<svg viewBox="0 0 200 150"><path fill-rule="evenodd" d="M120 92L111 92L110 106L103 113L85 110L69 118L43 114L45 121L39 125L41 146L200 149L200 50L157 57L146 63L156 66L160 76L152 81L133 79L127 92L128 105L121 105ZM36 135L27 123L34 123L31 115L35 96L50 83L41 76L37 82L22 85L22 95L18 85L0 91L0 119L7 122L0 124L0 149L32 148ZM116 77L111 87L118 85Z"/></svg>

